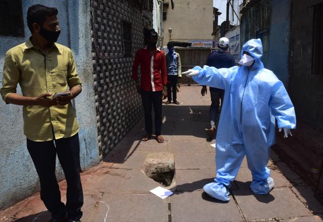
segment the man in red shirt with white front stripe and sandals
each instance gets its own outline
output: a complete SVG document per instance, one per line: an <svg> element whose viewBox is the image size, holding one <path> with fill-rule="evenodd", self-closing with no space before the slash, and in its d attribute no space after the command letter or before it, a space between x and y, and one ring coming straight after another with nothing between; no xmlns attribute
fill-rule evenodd
<svg viewBox="0 0 323 222"><path fill-rule="evenodd" d="M147 141L152 136L152 106L155 112L155 134L158 143L163 143L161 137L161 104L163 96L167 96L167 67L166 57L163 51L156 48L158 34L154 29L148 32L146 38L147 45L139 49L136 53L133 66L132 78L136 82L138 94L142 96L145 125L147 134L143 141ZM138 66L140 64L140 83L138 80Z"/></svg>

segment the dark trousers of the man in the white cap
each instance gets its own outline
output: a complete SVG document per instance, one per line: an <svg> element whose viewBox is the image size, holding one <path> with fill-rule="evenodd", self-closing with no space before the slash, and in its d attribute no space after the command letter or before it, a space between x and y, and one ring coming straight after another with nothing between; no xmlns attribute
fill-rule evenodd
<svg viewBox="0 0 323 222"><path fill-rule="evenodd" d="M217 110L220 105L221 99L221 106L223 105L223 97L224 97L224 90L220 90L219 88L212 88L210 90L211 94L211 106L210 106L210 122L211 127L216 128L216 117L217 117Z"/></svg>

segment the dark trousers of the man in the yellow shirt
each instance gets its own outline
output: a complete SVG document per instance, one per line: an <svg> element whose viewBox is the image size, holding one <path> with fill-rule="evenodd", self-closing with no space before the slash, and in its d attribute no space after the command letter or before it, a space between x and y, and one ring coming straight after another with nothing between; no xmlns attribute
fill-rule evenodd
<svg viewBox="0 0 323 222"><path fill-rule="evenodd" d="M83 190L80 181L78 134L58 140L35 142L27 139L27 149L41 182L41 199L52 217L78 220L82 217ZM56 153L67 181L66 206L60 201L55 176Z"/></svg>

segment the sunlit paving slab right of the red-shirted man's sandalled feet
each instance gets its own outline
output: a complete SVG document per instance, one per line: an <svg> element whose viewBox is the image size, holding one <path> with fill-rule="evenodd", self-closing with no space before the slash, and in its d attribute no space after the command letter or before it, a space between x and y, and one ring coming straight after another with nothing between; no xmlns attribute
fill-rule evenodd
<svg viewBox="0 0 323 222"><path fill-rule="evenodd" d="M206 142L172 140L167 144L168 152L211 152Z"/></svg>

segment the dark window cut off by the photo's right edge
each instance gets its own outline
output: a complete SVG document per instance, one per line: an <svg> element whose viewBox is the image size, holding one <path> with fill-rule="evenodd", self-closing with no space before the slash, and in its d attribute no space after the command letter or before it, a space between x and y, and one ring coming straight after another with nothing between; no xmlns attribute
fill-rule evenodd
<svg viewBox="0 0 323 222"><path fill-rule="evenodd" d="M323 75L323 3L314 6L312 74Z"/></svg>

